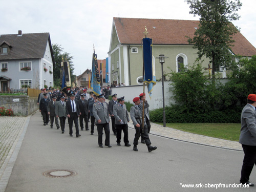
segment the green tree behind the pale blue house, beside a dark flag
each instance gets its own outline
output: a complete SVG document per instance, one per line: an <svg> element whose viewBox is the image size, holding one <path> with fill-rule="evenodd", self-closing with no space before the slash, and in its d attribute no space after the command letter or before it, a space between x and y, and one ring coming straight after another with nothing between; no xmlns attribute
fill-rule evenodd
<svg viewBox="0 0 256 192"><path fill-rule="evenodd" d="M74 82L76 76L73 74L74 72L74 65L72 63L73 56L70 56L70 53L64 52L63 48L59 44L53 44L53 56L55 60L55 65L53 66L53 81L54 86L60 87L60 69L61 69L61 61L62 58L65 61L69 62L70 65L70 75L71 75L71 82Z"/></svg>

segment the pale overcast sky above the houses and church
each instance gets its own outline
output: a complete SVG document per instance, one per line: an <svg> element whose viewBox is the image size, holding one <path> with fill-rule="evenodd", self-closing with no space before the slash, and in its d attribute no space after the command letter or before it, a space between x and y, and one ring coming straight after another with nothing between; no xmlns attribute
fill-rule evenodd
<svg viewBox="0 0 256 192"><path fill-rule="evenodd" d="M233 24L256 47L256 1L241 2L241 18ZM11 0L0 5L0 34L49 32L52 44L74 57L76 75L91 69L93 45L98 59L108 57L113 17L199 20L183 0Z"/></svg>

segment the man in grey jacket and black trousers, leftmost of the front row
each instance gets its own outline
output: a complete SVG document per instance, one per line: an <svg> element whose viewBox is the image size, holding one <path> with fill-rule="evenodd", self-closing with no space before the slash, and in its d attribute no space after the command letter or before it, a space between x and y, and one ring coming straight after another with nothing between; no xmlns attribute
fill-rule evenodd
<svg viewBox="0 0 256 192"><path fill-rule="evenodd" d="M103 102L103 94L98 96L98 102L93 104L93 116L96 120L97 130L98 130L98 144L99 147L102 146L102 134L103 128L105 131L105 146L112 147L110 145L110 126L109 126L109 112L106 103Z"/></svg>

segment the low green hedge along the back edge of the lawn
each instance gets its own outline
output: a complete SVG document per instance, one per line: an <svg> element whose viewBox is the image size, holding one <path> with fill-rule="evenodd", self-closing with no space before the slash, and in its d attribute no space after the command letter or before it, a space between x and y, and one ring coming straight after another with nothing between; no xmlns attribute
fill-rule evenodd
<svg viewBox="0 0 256 192"><path fill-rule="evenodd" d="M165 108L166 123L240 123L241 111L210 111L208 113L187 113L174 107ZM163 109L150 111L152 122L163 122Z"/></svg>

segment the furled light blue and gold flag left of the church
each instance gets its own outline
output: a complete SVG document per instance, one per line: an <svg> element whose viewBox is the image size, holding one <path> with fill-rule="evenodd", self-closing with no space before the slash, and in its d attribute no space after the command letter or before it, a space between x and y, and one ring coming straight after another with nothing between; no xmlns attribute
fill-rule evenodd
<svg viewBox="0 0 256 192"><path fill-rule="evenodd" d="M92 83L91 89L93 93L97 96L100 95L100 77L98 70L98 59L97 55L93 53L93 63L92 63Z"/></svg>

